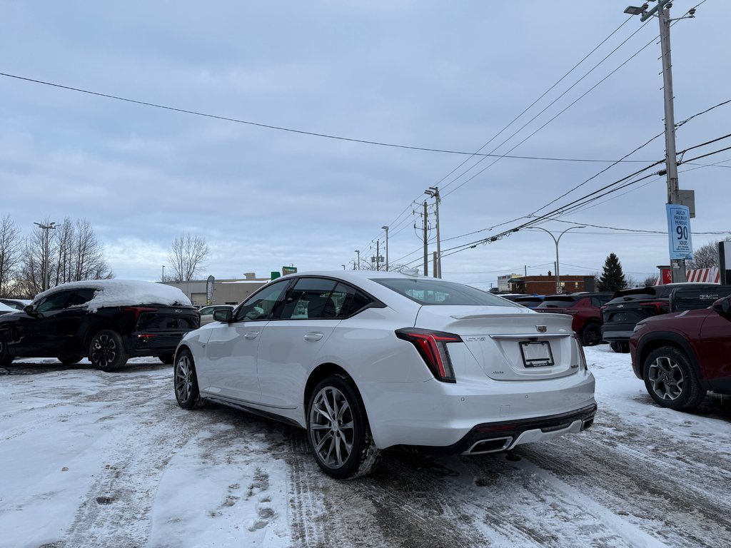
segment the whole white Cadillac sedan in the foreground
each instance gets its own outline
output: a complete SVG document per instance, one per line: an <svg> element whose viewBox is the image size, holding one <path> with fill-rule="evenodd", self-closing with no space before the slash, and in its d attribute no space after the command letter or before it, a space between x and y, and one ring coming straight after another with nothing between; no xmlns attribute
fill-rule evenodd
<svg viewBox="0 0 731 548"><path fill-rule="evenodd" d="M178 404L211 400L303 427L336 478L369 473L389 447L499 452L594 421L571 316L461 283L298 273L213 317L175 352Z"/></svg>

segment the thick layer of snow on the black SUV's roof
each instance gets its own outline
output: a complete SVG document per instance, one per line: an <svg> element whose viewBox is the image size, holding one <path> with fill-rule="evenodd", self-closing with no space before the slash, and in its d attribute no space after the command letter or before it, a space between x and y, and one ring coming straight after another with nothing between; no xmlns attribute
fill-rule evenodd
<svg viewBox="0 0 731 548"><path fill-rule="evenodd" d="M75 288L96 289L94 298L86 303L90 312L96 312L103 306L193 305L190 299L177 287L166 286L164 283L138 280L71 281L37 294L33 303L35 304L47 295Z"/></svg>

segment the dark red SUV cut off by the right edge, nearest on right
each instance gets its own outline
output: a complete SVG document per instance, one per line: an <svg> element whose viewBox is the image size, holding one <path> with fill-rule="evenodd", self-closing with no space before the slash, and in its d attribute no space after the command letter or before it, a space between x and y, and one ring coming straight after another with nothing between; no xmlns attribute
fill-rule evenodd
<svg viewBox="0 0 731 548"><path fill-rule="evenodd" d="M693 409L708 390L731 395L731 296L643 319L629 349L635 376L660 406Z"/></svg>

